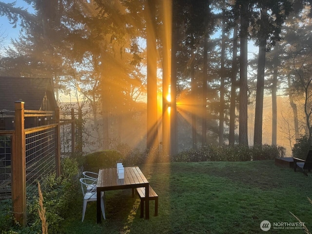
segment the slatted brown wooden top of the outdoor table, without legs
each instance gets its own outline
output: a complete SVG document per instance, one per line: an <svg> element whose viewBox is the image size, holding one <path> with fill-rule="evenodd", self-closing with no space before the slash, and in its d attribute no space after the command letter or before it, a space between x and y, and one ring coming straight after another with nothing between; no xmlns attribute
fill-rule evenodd
<svg viewBox="0 0 312 234"><path fill-rule="evenodd" d="M125 167L124 179L118 178L117 168L99 169L98 171L97 188L102 190L145 187L148 183L137 166Z"/></svg>

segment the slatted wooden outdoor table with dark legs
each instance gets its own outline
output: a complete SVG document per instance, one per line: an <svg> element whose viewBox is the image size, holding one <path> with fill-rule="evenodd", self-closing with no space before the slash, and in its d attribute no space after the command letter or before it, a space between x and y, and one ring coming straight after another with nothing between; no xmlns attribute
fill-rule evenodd
<svg viewBox="0 0 312 234"><path fill-rule="evenodd" d="M149 195L149 182L136 167L124 168L124 179L117 176L117 168L99 169L97 184L97 222L101 222L101 192L117 189L134 189L145 187L145 196ZM150 218L149 200L145 204L145 219Z"/></svg>

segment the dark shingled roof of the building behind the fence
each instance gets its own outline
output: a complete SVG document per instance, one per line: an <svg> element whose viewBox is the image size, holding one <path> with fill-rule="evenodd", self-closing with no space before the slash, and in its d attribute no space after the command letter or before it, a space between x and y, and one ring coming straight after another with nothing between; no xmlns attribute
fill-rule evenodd
<svg viewBox="0 0 312 234"><path fill-rule="evenodd" d="M48 92L54 97L50 78L0 77L0 110L14 110L18 100L25 102L27 110L40 110Z"/></svg>

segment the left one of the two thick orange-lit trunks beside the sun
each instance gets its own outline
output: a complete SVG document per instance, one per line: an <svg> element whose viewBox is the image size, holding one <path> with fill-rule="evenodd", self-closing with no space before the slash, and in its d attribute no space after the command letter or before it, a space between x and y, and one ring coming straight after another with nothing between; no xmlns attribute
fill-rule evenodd
<svg viewBox="0 0 312 234"><path fill-rule="evenodd" d="M158 147L157 124L157 57L156 57L156 6L155 0L146 5L147 48L147 150Z"/></svg>

